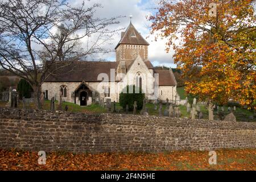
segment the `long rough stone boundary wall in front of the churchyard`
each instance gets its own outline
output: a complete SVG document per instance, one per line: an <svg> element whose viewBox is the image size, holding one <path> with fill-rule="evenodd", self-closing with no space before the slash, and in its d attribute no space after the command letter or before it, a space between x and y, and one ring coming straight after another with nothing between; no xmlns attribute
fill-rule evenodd
<svg viewBox="0 0 256 182"><path fill-rule="evenodd" d="M0 148L90 153L256 148L256 123L0 108Z"/></svg>

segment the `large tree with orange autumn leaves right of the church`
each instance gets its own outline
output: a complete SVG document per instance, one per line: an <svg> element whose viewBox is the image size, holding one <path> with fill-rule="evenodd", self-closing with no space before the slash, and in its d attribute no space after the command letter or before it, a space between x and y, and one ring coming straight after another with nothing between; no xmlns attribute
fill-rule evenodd
<svg viewBox="0 0 256 182"><path fill-rule="evenodd" d="M168 38L186 91L225 104L256 108L255 0L160 1L152 21L156 38ZM199 72L192 72L201 67ZM190 78L199 78L198 80Z"/></svg>

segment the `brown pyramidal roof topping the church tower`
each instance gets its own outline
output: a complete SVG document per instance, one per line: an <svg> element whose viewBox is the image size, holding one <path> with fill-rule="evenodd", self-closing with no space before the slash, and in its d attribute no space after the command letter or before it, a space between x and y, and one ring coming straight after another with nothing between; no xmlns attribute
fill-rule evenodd
<svg viewBox="0 0 256 182"><path fill-rule="evenodd" d="M133 45L146 45L149 46L148 42L143 38L143 36L136 30L132 23L129 24L125 32L122 32L122 37L117 47L120 44L133 44ZM117 49L115 47L115 49Z"/></svg>

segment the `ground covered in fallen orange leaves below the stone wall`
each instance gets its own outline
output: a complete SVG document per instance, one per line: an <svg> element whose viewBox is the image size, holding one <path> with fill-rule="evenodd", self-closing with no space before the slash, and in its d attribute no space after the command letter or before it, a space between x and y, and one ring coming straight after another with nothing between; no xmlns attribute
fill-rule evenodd
<svg viewBox="0 0 256 182"><path fill-rule="evenodd" d="M38 152L0 150L0 170L256 170L256 150L219 150L217 165L209 165L207 151L160 154L73 154L51 152L46 165Z"/></svg>

